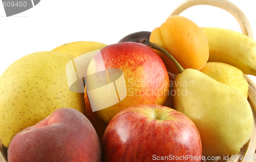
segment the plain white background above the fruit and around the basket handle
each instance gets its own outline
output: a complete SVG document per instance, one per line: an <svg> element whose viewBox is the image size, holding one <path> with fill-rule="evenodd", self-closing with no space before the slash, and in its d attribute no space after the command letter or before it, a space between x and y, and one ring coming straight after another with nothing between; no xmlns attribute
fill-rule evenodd
<svg viewBox="0 0 256 162"><path fill-rule="evenodd" d="M41 0L32 9L10 17L6 17L0 4L0 75L18 58L38 51L51 51L61 44L80 40L113 44L127 34L152 31L182 2L184 0ZM256 33L256 1L230 2L244 12ZM200 27L241 32L236 19L216 7L195 6L180 15Z"/></svg>

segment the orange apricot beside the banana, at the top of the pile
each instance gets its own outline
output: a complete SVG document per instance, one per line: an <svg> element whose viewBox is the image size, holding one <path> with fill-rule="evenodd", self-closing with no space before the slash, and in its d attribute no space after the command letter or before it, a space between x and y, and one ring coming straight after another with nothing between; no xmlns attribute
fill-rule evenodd
<svg viewBox="0 0 256 162"><path fill-rule="evenodd" d="M155 28L150 41L157 43L185 68L201 70L209 58L209 45L203 31L192 20L170 16L160 27ZM173 62L163 53L156 51L163 60L167 71L178 74Z"/></svg>

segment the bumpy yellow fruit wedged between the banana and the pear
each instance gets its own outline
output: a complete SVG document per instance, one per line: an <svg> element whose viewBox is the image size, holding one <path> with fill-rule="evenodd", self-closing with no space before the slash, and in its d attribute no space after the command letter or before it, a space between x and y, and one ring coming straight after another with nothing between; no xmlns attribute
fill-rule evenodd
<svg viewBox="0 0 256 162"><path fill-rule="evenodd" d="M246 98L248 97L248 82L239 68L223 62L207 62L201 72L219 82L230 85L241 91Z"/></svg>

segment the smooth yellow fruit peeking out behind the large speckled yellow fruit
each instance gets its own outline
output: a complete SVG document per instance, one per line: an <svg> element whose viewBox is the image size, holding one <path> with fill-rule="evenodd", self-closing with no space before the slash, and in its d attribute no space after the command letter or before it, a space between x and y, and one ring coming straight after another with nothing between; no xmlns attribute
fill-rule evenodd
<svg viewBox="0 0 256 162"><path fill-rule="evenodd" d="M95 42L95 41L75 41L67 44L62 44L59 47L56 47L52 51L60 52L66 54L72 58L76 58L82 54L102 49L106 44Z"/></svg>

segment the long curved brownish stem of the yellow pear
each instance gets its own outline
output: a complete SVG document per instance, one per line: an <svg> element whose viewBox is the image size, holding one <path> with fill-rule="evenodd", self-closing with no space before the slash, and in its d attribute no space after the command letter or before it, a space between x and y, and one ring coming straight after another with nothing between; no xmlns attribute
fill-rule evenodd
<svg viewBox="0 0 256 162"><path fill-rule="evenodd" d="M158 45L156 43L149 41L148 44L152 49L162 52L165 56L167 56L170 60L172 60L172 62L178 68L179 73L182 73L184 71L184 68L179 64L179 62L170 53L168 53L168 51L164 50L160 45Z"/></svg>

